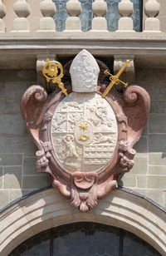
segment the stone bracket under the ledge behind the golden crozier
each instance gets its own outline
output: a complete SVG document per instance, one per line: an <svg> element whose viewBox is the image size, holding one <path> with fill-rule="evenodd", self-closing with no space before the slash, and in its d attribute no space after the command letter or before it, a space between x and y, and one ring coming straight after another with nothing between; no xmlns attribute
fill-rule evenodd
<svg viewBox="0 0 166 256"><path fill-rule="evenodd" d="M55 54L40 54L37 55L37 82L40 86L42 86L43 88L47 88L47 84L46 84L46 77L44 77L42 75L42 68L43 66L45 66L46 64L46 59L49 59L50 61L56 61L56 55Z"/></svg>

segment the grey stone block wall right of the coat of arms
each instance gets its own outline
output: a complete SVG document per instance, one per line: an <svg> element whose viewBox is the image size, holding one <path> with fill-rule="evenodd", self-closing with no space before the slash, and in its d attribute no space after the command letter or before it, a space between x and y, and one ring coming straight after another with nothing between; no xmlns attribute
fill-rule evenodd
<svg viewBox="0 0 166 256"><path fill-rule="evenodd" d="M166 71L158 66L136 68L134 84L149 92L149 121L139 142L134 168L122 178L123 185L166 207ZM158 82L159 81L159 82Z"/></svg>

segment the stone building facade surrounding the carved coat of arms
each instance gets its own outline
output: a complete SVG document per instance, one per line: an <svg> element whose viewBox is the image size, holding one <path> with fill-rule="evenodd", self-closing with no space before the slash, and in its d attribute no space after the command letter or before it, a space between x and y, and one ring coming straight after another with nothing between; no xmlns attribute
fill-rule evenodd
<svg viewBox="0 0 166 256"><path fill-rule="evenodd" d="M146 255L166 255L166 2L95 0L92 5L78 0L3 0L0 17L1 255L48 229L85 222L113 226L114 234L123 229L156 250ZM129 59L122 80L143 87L151 99L149 120L134 146L133 169L88 213L81 213L52 189L50 175L37 172L37 148L20 111L29 86L52 90L41 72L46 58L65 66L82 49L105 63L111 73ZM122 86L117 90L121 92ZM73 229L79 232L82 226ZM46 235L50 238L50 233ZM120 241L127 243L125 235ZM84 255L135 255L134 245L131 248L129 252L118 247L120 254L102 254L98 249L98 254ZM67 249L56 254L52 250L13 255L72 255Z"/></svg>

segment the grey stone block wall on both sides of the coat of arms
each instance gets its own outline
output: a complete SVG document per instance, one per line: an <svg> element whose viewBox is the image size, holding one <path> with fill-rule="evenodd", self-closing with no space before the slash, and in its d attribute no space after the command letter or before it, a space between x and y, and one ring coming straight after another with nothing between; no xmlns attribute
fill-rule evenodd
<svg viewBox="0 0 166 256"><path fill-rule="evenodd" d="M143 63L144 64L144 63ZM36 148L20 114L20 100L37 74L0 71L0 207L32 190L51 185L49 175L37 173ZM135 165L121 184L166 206L166 70L154 64L136 66L135 84L151 97L149 121L135 149Z"/></svg>

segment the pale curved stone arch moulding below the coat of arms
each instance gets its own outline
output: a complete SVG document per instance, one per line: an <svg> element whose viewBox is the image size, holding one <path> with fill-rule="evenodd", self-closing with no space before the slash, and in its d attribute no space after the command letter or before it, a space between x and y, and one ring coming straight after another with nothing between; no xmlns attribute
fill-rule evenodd
<svg viewBox="0 0 166 256"><path fill-rule="evenodd" d="M55 189L32 193L0 213L0 253L6 256L19 244L46 229L80 221L109 224L144 239L166 255L165 210L130 190L114 190L89 213L82 213Z"/></svg>

